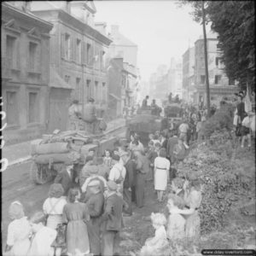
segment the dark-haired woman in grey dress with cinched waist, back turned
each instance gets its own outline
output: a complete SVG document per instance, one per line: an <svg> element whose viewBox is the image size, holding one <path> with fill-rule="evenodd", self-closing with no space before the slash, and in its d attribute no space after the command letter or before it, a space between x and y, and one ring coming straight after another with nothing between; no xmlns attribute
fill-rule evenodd
<svg viewBox="0 0 256 256"><path fill-rule="evenodd" d="M63 209L62 223L67 224L67 255L90 253L87 224L90 220L88 208L79 202L79 189L70 189L68 203Z"/></svg>

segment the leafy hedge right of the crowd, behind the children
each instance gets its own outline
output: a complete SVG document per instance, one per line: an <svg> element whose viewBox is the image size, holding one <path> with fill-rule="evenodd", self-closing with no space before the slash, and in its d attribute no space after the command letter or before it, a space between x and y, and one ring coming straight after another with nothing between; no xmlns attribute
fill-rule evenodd
<svg viewBox="0 0 256 256"><path fill-rule="evenodd" d="M252 195L255 180L253 166L245 170L240 160L230 161L229 131L215 131L209 142L192 149L177 170L181 177L195 174L204 185L199 210L203 234L224 226L224 215Z"/></svg>

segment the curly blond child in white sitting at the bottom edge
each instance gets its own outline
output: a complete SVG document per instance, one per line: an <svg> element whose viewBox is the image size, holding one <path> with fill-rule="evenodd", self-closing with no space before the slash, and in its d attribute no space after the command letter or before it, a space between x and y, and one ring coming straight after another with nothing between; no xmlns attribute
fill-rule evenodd
<svg viewBox="0 0 256 256"><path fill-rule="evenodd" d="M160 255L161 249L168 244L166 238L166 217L162 213L151 213L152 225L155 229L154 237L150 237L145 241L145 245L142 247L140 255Z"/></svg>

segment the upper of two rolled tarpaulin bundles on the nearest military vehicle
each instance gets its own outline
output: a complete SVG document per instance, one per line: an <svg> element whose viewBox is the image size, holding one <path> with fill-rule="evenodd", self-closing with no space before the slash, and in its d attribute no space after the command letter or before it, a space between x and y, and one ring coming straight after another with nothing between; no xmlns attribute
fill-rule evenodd
<svg viewBox="0 0 256 256"><path fill-rule="evenodd" d="M32 148L32 154L59 154L67 153L70 148L68 143L45 143Z"/></svg>

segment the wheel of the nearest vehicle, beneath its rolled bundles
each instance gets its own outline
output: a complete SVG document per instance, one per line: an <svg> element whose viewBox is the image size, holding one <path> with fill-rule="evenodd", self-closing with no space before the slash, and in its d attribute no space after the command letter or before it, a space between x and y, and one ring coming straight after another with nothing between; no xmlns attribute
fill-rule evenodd
<svg viewBox="0 0 256 256"><path fill-rule="evenodd" d="M53 176L51 174L51 170L49 169L48 164L42 165L32 162L30 177L34 183L44 184L48 183Z"/></svg>

